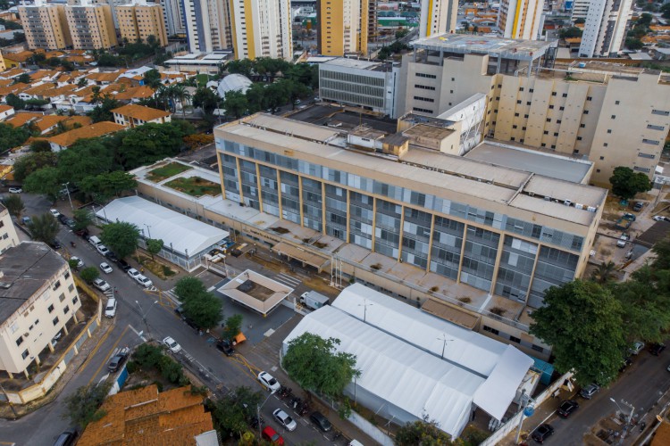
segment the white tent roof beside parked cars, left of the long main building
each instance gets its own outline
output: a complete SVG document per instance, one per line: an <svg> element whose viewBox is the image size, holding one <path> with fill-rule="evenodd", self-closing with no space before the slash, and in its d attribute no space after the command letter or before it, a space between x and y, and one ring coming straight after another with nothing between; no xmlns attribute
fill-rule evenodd
<svg viewBox="0 0 670 446"><path fill-rule="evenodd" d="M108 221L132 223L142 229L147 238L150 232L151 238L163 240L165 247L172 244L172 249L184 256L187 250L189 256L195 256L229 235L222 229L205 225L197 219L191 219L138 196L114 200L104 209L96 211L96 215Z"/></svg>

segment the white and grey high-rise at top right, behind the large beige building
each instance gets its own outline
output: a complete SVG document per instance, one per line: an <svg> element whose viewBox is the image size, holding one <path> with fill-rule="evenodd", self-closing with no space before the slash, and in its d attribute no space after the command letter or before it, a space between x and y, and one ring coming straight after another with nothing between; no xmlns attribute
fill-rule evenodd
<svg viewBox="0 0 670 446"><path fill-rule="evenodd" d="M632 0L591 0L579 46L582 57L611 57L621 50Z"/></svg>

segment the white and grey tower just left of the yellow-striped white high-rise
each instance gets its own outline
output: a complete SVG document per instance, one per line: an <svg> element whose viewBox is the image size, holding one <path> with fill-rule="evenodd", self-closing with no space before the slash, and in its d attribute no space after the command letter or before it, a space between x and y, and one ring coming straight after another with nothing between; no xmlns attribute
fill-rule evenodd
<svg viewBox="0 0 670 446"><path fill-rule="evenodd" d="M211 53L230 48L230 3L226 0L184 0L188 50Z"/></svg>

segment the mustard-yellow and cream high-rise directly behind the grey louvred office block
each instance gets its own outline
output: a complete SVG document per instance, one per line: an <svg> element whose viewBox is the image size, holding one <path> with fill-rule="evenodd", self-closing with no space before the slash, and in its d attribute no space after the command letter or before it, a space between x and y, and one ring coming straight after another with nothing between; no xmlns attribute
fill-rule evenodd
<svg viewBox="0 0 670 446"><path fill-rule="evenodd" d="M367 54L369 0L319 0L316 44L320 54Z"/></svg>

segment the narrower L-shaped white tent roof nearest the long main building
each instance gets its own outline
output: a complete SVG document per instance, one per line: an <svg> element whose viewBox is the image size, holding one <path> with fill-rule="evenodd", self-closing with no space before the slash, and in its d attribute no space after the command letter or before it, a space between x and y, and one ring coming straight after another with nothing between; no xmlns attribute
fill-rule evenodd
<svg viewBox="0 0 670 446"><path fill-rule="evenodd" d="M361 284L349 285L332 306L398 339L429 351L473 375L486 378L474 403L502 419L533 360L500 343L393 299ZM364 314L365 312L365 314ZM444 339L447 339L445 344Z"/></svg>

